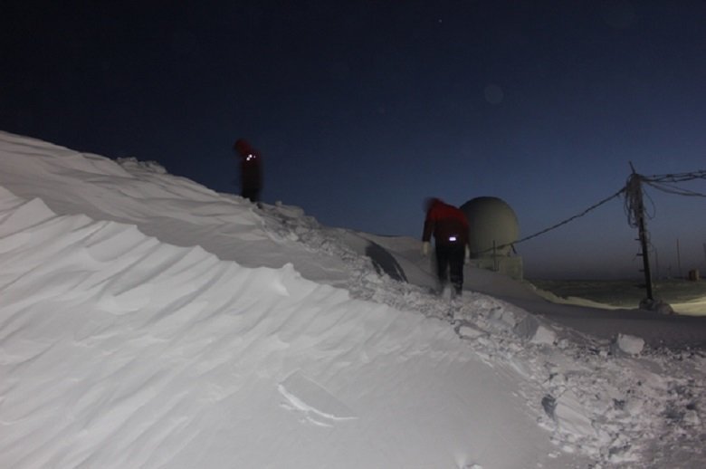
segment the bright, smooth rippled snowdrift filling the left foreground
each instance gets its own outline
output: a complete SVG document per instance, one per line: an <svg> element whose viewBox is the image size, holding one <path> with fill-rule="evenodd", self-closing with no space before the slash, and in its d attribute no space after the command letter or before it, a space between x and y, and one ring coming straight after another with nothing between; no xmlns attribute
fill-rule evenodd
<svg viewBox="0 0 706 469"><path fill-rule="evenodd" d="M453 467L462 448L514 467L544 445L443 323L0 200L0 466ZM528 436L508 454L510 422Z"/></svg>

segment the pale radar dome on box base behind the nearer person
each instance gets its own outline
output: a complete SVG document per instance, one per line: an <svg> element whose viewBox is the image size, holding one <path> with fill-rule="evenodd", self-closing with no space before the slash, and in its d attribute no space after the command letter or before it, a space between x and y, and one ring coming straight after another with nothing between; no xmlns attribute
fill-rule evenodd
<svg viewBox="0 0 706 469"><path fill-rule="evenodd" d="M469 244L471 257L509 256L512 247L503 244L514 243L520 235L517 215L498 197L476 197L461 206L468 217Z"/></svg>

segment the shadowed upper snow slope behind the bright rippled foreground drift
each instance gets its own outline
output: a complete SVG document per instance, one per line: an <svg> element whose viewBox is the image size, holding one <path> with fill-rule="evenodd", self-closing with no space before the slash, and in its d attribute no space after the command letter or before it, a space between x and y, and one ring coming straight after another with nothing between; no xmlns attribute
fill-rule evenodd
<svg viewBox="0 0 706 469"><path fill-rule="evenodd" d="M345 275L338 259L267 231L262 215L241 197L215 193L156 163L116 162L5 132L0 155L0 186L15 196L41 198L58 215L137 225L163 243L199 245L243 266L280 268L291 262L305 277L331 283Z"/></svg>

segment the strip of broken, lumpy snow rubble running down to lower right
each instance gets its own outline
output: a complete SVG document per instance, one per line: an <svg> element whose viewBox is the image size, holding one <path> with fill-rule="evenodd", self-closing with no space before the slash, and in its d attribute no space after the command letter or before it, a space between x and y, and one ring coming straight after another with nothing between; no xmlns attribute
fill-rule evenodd
<svg viewBox="0 0 706 469"><path fill-rule="evenodd" d="M281 219L312 249L323 246L346 260L354 272L346 288L354 297L448 321L487 364L520 375L520 393L529 409L563 451L611 466L631 466L660 454L670 460L680 453L684 461L701 455L706 436L697 410L706 408L701 351L653 349L634 357L615 343L591 339L481 293L464 292L449 302L423 287L380 275L369 258L341 244L341 230L291 217L289 210ZM670 367L673 359L691 361L698 378Z"/></svg>

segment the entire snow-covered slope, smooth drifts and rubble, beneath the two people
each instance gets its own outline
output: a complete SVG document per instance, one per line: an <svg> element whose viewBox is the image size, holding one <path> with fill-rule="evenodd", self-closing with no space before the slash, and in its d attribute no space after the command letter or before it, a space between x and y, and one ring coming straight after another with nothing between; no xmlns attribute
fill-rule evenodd
<svg viewBox="0 0 706 469"><path fill-rule="evenodd" d="M706 465L703 318L419 252L0 132L0 467Z"/></svg>

